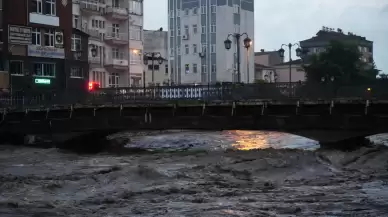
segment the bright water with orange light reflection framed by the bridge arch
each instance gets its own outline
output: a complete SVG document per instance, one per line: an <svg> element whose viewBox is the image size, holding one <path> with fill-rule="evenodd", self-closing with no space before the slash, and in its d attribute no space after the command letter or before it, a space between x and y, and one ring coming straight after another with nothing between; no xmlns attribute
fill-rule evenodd
<svg viewBox="0 0 388 217"><path fill-rule="evenodd" d="M318 143L300 136L270 131L175 131L132 138L127 147L173 150L188 148L211 150L297 148L314 150L318 148Z"/></svg>

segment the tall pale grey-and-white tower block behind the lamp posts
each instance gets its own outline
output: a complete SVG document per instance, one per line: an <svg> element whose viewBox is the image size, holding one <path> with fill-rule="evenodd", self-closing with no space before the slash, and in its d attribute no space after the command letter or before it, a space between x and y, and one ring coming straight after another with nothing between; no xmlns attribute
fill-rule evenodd
<svg viewBox="0 0 388 217"><path fill-rule="evenodd" d="M226 50L228 34L254 39L254 0L168 0L170 75L176 84L237 81L237 49ZM240 39L241 81L253 82L252 43ZM254 42L254 40L253 40ZM247 58L249 57L249 58ZM248 66L249 65L249 66ZM248 73L249 72L249 73Z"/></svg>

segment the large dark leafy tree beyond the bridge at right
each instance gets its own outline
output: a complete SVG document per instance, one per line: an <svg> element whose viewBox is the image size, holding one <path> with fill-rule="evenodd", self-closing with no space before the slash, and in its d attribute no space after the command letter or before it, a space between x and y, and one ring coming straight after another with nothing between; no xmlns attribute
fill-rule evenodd
<svg viewBox="0 0 388 217"><path fill-rule="evenodd" d="M337 84L360 84L376 80L379 70L374 63L366 63L354 44L332 41L325 52L312 55L304 66L307 82L321 82L334 78Z"/></svg>

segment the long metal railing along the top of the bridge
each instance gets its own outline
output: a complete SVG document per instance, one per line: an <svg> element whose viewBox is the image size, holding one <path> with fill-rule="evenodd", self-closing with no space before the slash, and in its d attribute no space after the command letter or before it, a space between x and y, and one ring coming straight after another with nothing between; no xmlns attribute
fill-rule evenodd
<svg viewBox="0 0 388 217"><path fill-rule="evenodd" d="M292 83L107 88L92 93L17 92L0 96L1 108L69 104L135 104L171 101L330 100L335 98L388 100L388 85L336 86Z"/></svg>

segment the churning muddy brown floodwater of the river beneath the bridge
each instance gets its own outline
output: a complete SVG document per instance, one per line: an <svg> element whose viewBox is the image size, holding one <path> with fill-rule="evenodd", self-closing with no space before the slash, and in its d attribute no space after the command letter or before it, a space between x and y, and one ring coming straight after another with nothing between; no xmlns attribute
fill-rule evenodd
<svg viewBox="0 0 388 217"><path fill-rule="evenodd" d="M388 216L386 146L341 152L282 133L188 131L131 136L127 147L148 152L0 146L0 216Z"/></svg>

